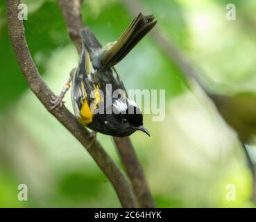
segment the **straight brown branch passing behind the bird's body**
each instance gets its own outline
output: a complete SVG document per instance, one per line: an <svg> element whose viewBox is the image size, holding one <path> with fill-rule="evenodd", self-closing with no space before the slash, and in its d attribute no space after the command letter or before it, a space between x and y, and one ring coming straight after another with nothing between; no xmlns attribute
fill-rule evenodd
<svg viewBox="0 0 256 222"><path fill-rule="evenodd" d="M67 23L67 29L71 40L76 45L78 53L81 51L79 31L82 28L82 16L80 13L80 0L58 0L60 9ZM155 203L151 196L151 192L146 184L144 172L141 164L135 153L132 142L129 137L117 138L114 137L114 142L117 146L117 151L123 162L123 166L126 169L126 173L130 178L135 191L135 196L140 207L155 207Z"/></svg>

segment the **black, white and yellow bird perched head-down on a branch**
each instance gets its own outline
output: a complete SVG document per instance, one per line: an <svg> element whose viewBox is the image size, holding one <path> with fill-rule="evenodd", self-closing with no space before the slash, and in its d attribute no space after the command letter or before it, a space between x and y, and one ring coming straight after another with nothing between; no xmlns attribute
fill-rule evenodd
<svg viewBox="0 0 256 222"><path fill-rule="evenodd" d="M140 130L150 136L143 126L143 114L135 101L128 98L117 65L155 26L153 15L141 12L133 19L117 41L101 46L89 28L81 28L82 51L78 67L53 99L52 108L62 103L71 83L71 101L76 119L93 133L127 137ZM131 65L131 74L133 69ZM135 78L136 80L136 78Z"/></svg>

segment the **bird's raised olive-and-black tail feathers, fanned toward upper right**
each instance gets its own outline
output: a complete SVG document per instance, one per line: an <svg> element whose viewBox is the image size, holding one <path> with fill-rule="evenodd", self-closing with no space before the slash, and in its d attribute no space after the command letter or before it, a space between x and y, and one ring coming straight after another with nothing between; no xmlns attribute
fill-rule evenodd
<svg viewBox="0 0 256 222"><path fill-rule="evenodd" d="M101 57L103 69L108 69L120 62L151 31L156 23L157 21L153 15L144 16L142 13L139 13L117 42L103 53Z"/></svg>

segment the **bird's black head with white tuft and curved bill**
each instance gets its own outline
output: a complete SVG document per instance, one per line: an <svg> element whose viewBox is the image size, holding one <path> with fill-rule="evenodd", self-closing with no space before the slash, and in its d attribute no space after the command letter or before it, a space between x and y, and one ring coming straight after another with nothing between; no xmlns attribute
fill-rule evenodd
<svg viewBox="0 0 256 222"><path fill-rule="evenodd" d="M128 100L127 103L115 101L112 104L112 113L104 114L104 119L101 121L103 124L97 124L98 126L101 125L101 128L97 128L96 131L106 135L127 137L137 130L150 135L143 126L142 111L137 108L134 101Z"/></svg>

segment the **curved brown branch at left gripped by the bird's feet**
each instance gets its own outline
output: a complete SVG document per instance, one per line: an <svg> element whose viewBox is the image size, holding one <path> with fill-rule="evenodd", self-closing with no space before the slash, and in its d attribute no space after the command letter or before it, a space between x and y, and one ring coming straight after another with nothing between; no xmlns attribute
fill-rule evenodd
<svg viewBox="0 0 256 222"><path fill-rule="evenodd" d="M8 32L19 67L22 69L22 73L24 74L29 87L44 107L53 114L53 116L56 117L56 119L58 119L58 121L60 121L60 123L62 123L62 125L65 126L65 128L67 128L67 130L69 130L69 132L72 133L85 148L89 147L92 142L92 139L88 139L89 131L78 123L74 115L71 114L64 105L58 110L50 110L50 99L51 96L53 96L53 92L51 92L51 89L49 89L46 83L44 83L44 80L42 80L35 67L33 59L31 58L31 53L28 49L24 33L24 25L23 22L18 19L19 3L19 0L6 1ZM121 173L119 167L117 167L109 155L104 151L99 142L95 142L93 146L87 148L87 151L92 155L96 164L98 164L103 173L105 173L105 176L107 176L112 183L121 205L123 207L136 207L130 184Z"/></svg>

